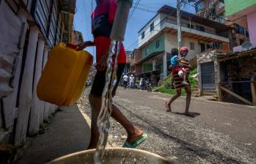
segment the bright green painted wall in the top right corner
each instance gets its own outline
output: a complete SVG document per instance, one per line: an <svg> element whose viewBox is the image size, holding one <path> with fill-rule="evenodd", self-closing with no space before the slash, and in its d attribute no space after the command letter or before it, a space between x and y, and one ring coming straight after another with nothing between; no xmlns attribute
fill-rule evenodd
<svg viewBox="0 0 256 164"><path fill-rule="evenodd" d="M226 15L234 15L256 4L255 0L224 0Z"/></svg>

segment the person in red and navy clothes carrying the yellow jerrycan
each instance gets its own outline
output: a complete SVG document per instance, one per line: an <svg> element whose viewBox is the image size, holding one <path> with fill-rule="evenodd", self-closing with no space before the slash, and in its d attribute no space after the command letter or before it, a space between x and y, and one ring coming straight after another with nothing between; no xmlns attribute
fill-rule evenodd
<svg viewBox="0 0 256 164"><path fill-rule="evenodd" d="M109 57L109 45L111 42L110 34L113 26L115 13L117 11L117 0L96 0L95 11L92 12L92 34L94 42L87 41L78 45L77 50L81 51L88 46L96 46L97 73L92 83L92 89L89 94L89 103L92 108L91 139L87 149L95 149L99 139L97 126L98 114L100 113L102 94L106 82L107 59ZM121 44L120 53L117 59L117 83L114 85L112 95L116 94L118 83L122 78L122 72L125 68L126 54L125 48ZM125 141L125 147L135 148L146 140L147 134L136 127L121 113L120 109L112 103L111 116L125 128L128 138Z"/></svg>

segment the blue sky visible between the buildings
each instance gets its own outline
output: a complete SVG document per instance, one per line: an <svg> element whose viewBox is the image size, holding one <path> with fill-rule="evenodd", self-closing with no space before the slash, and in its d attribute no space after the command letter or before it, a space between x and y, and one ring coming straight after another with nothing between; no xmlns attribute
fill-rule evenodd
<svg viewBox="0 0 256 164"><path fill-rule="evenodd" d="M125 32L125 49L134 50L138 46L138 31L151 19L156 12L164 5L176 7L176 0L134 0L139 1L138 7L128 20L128 25ZM76 15L74 20L74 28L81 31L85 40L93 40L91 34L91 12L95 9L95 0L76 0ZM194 13L194 7L186 5L182 7L186 12ZM130 10L134 10L134 5ZM89 53L95 56L95 48L87 48Z"/></svg>

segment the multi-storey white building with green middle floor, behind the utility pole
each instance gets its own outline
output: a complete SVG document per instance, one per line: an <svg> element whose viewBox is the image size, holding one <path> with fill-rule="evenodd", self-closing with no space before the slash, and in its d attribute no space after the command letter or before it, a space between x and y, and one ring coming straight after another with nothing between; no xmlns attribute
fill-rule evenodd
<svg viewBox="0 0 256 164"><path fill-rule="evenodd" d="M155 81L167 76L171 50L178 48L176 15L175 8L161 7L156 16L139 30L141 75L153 75ZM183 46L189 48L189 60L211 48L230 51L228 26L184 11L181 22Z"/></svg>

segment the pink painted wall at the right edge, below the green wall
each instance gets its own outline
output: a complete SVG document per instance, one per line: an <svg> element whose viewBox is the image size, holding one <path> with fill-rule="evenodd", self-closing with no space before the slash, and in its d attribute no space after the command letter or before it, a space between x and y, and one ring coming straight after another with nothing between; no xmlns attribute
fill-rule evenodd
<svg viewBox="0 0 256 164"><path fill-rule="evenodd" d="M252 45L256 47L256 12L247 15L249 38Z"/></svg>

